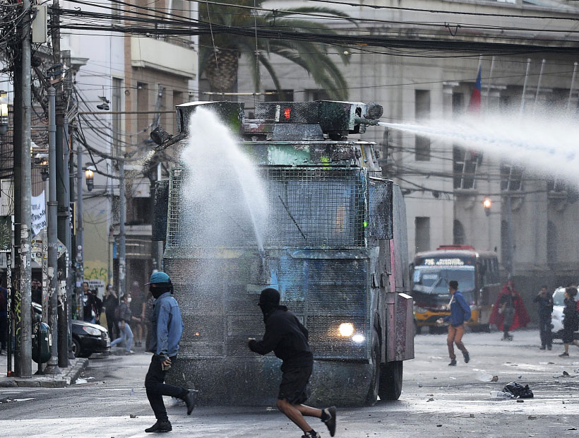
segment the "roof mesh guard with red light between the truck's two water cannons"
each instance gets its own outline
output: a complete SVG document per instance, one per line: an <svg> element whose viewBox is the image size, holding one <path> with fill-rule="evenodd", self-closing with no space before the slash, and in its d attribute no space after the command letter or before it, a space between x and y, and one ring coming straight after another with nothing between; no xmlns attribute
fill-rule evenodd
<svg viewBox="0 0 579 438"><path fill-rule="evenodd" d="M320 102L257 102L256 119L280 123L314 124L318 122Z"/></svg>

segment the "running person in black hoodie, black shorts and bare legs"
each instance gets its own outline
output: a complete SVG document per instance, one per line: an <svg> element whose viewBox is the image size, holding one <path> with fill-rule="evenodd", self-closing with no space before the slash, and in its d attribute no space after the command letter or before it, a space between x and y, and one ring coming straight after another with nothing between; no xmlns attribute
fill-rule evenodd
<svg viewBox="0 0 579 438"><path fill-rule="evenodd" d="M330 431L335 434L335 406L316 409L305 406L307 385L314 367L314 355L308 344L308 331L299 322L297 316L280 306L280 292L272 288L261 291L259 307L263 313L265 333L261 341L248 338L247 345L254 353L266 355L273 353L282 360L282 381L277 393L277 408L304 431L302 438L320 438L304 419L320 418Z"/></svg>

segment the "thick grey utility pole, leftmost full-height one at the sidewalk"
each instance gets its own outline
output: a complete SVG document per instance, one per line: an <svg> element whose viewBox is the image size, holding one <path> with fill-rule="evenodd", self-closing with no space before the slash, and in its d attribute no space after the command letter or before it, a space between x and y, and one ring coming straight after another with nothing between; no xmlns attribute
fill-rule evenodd
<svg viewBox="0 0 579 438"><path fill-rule="evenodd" d="M22 27L20 37L21 59L20 59L20 104L16 109L20 112L18 119L19 125L16 129L20 130L19 142L14 144L14 184L20 186L19 208L18 208L18 225L19 233L15 236L15 242L20 241L19 248L19 267L20 267L20 284L17 285L15 293L16 309L16 351L14 365L18 377L32 377L32 318L30 315L31 297L30 297L30 231L32 220L30 218L31 194L31 166L30 166L30 138L32 116L32 73L30 66L31 47L30 47L30 0L22 2L23 14L25 21ZM15 75L16 76L16 75ZM18 149L18 154L16 150ZM18 164L17 164L18 161ZM19 167L18 172L16 167ZM18 174L17 174L18 173ZM15 193L16 194L16 193ZM15 211L17 205L15 202ZM16 218L15 218L16 220Z"/></svg>

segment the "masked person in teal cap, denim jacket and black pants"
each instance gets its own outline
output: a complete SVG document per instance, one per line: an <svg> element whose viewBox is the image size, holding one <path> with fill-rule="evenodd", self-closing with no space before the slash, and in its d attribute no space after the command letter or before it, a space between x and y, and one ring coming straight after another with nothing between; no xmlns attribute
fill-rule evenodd
<svg viewBox="0 0 579 438"><path fill-rule="evenodd" d="M149 349L153 357L145 377L145 389L157 422L145 429L145 432L170 432L173 427L167 416L163 396L181 398L187 406L187 415L191 415L198 391L165 383L167 371L177 362L184 324L179 304L173 297L173 285L169 276L161 271L154 272L147 284L155 298L155 304Z"/></svg>

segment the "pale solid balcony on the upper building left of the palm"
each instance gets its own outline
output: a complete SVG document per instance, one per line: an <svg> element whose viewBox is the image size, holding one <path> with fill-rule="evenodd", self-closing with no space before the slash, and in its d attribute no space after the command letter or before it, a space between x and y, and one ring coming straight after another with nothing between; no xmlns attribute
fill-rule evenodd
<svg viewBox="0 0 579 438"><path fill-rule="evenodd" d="M131 65L193 79L197 76L198 56L195 50L173 42L131 37Z"/></svg>

